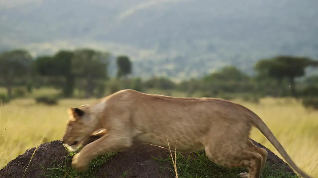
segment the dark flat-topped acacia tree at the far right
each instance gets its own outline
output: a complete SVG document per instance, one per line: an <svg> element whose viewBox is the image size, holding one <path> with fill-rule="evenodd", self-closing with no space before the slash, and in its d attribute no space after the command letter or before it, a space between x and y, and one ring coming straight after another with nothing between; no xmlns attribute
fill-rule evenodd
<svg viewBox="0 0 318 178"><path fill-rule="evenodd" d="M272 59L259 60L254 68L260 76L267 75L277 79L279 83L287 78L290 83L291 94L297 98L295 78L303 76L308 66L318 66L318 61L307 57L277 56Z"/></svg>

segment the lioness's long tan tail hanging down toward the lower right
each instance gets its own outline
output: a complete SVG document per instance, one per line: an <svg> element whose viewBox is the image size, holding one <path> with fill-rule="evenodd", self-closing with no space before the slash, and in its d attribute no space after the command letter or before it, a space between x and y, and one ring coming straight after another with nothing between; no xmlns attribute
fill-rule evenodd
<svg viewBox="0 0 318 178"><path fill-rule="evenodd" d="M293 162L293 160L290 158L290 156L287 154L286 150L283 148L283 146L280 144L280 142L277 140L277 138L274 136L271 130L267 127L267 125L264 123L264 121L254 112L252 112L254 117L252 117L252 121L255 125L255 127L262 132L262 134L267 138L267 140L273 144L273 146L278 150L281 156L287 161L290 167L292 167L298 174L300 174L304 178L313 178L304 173L300 168L296 166L296 164Z"/></svg>

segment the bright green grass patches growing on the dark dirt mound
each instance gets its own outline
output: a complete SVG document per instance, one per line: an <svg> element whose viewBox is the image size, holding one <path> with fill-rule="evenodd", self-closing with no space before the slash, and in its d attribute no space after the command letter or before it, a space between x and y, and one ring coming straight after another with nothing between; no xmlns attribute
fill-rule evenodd
<svg viewBox="0 0 318 178"><path fill-rule="evenodd" d="M78 152L78 151L77 151ZM77 153L69 153L66 157L66 161L62 162L60 165L54 165L53 168L43 168L44 170L50 170L49 175L42 175L47 178L96 178L97 171L100 170L103 163L109 161L117 153L109 153L102 156L94 158L90 162L90 169L86 172L77 172L71 168L70 163L72 162L72 157ZM158 164L164 164L169 162L170 168L161 167L161 169L174 170L174 164L171 157L153 157ZM261 178L299 178L297 175L291 175L290 173L284 172L283 168L280 170L273 170L271 168L273 165L266 164ZM197 151L189 154L188 156L183 156L181 153L176 154L176 170L178 178L239 178L238 173L247 172L244 168L225 168L223 166L217 165L205 156L204 151ZM128 178L128 171L122 173L121 178Z"/></svg>

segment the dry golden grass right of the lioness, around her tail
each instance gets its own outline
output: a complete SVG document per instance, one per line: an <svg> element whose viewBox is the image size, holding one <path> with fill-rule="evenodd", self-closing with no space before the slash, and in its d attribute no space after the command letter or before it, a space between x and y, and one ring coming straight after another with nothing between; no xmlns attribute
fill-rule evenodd
<svg viewBox="0 0 318 178"><path fill-rule="evenodd" d="M313 177L318 177L318 112L306 111L293 99L261 100L260 105L238 102L260 116L286 149L296 165ZM280 154L271 143L253 129L251 138Z"/></svg>

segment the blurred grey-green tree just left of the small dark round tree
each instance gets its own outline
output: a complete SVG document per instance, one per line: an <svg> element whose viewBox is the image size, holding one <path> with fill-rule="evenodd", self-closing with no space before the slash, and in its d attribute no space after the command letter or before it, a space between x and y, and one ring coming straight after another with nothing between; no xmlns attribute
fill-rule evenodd
<svg viewBox="0 0 318 178"><path fill-rule="evenodd" d="M74 51L72 73L80 78L85 78L85 97L91 97L95 88L95 79L108 79L109 53L81 48Z"/></svg>

